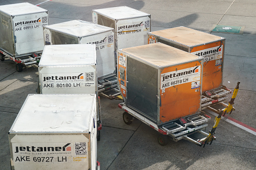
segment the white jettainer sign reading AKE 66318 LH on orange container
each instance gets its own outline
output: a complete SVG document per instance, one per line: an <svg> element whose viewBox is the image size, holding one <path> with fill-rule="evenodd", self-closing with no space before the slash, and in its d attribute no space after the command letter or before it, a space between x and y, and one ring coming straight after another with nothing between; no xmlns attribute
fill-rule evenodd
<svg viewBox="0 0 256 170"><path fill-rule="evenodd" d="M201 66L195 66L182 70L161 74L161 89L179 84L199 81L201 76Z"/></svg>

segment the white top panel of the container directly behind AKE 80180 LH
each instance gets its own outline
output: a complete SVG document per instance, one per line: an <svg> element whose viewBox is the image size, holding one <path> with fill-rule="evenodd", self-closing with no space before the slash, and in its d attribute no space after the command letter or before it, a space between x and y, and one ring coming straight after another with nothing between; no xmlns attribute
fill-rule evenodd
<svg viewBox="0 0 256 170"><path fill-rule="evenodd" d="M113 28L101 26L98 24L89 23L81 20L73 20L59 24L46 26L50 30L58 31L74 37L85 37L102 32L113 30Z"/></svg>

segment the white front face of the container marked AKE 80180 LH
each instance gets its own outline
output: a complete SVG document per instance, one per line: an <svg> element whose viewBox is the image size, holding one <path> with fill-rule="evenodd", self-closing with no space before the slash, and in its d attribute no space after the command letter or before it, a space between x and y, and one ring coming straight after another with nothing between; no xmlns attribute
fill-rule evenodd
<svg viewBox="0 0 256 170"><path fill-rule="evenodd" d="M95 94L96 66L39 67L42 94Z"/></svg>

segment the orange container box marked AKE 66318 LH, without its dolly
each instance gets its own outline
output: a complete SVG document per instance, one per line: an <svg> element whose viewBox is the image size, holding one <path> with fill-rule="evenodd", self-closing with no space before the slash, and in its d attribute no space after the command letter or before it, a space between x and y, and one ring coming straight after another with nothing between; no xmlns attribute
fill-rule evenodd
<svg viewBox="0 0 256 170"><path fill-rule="evenodd" d="M118 50L125 104L157 125L201 111L203 58L154 43Z"/></svg>

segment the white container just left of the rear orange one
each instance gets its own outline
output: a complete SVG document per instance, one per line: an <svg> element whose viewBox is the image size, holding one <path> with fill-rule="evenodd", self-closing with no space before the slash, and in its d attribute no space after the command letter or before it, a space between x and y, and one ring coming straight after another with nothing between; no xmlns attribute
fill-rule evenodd
<svg viewBox="0 0 256 170"><path fill-rule="evenodd" d="M116 50L147 44L151 15L129 7L93 10L95 24L115 29Z"/></svg>

